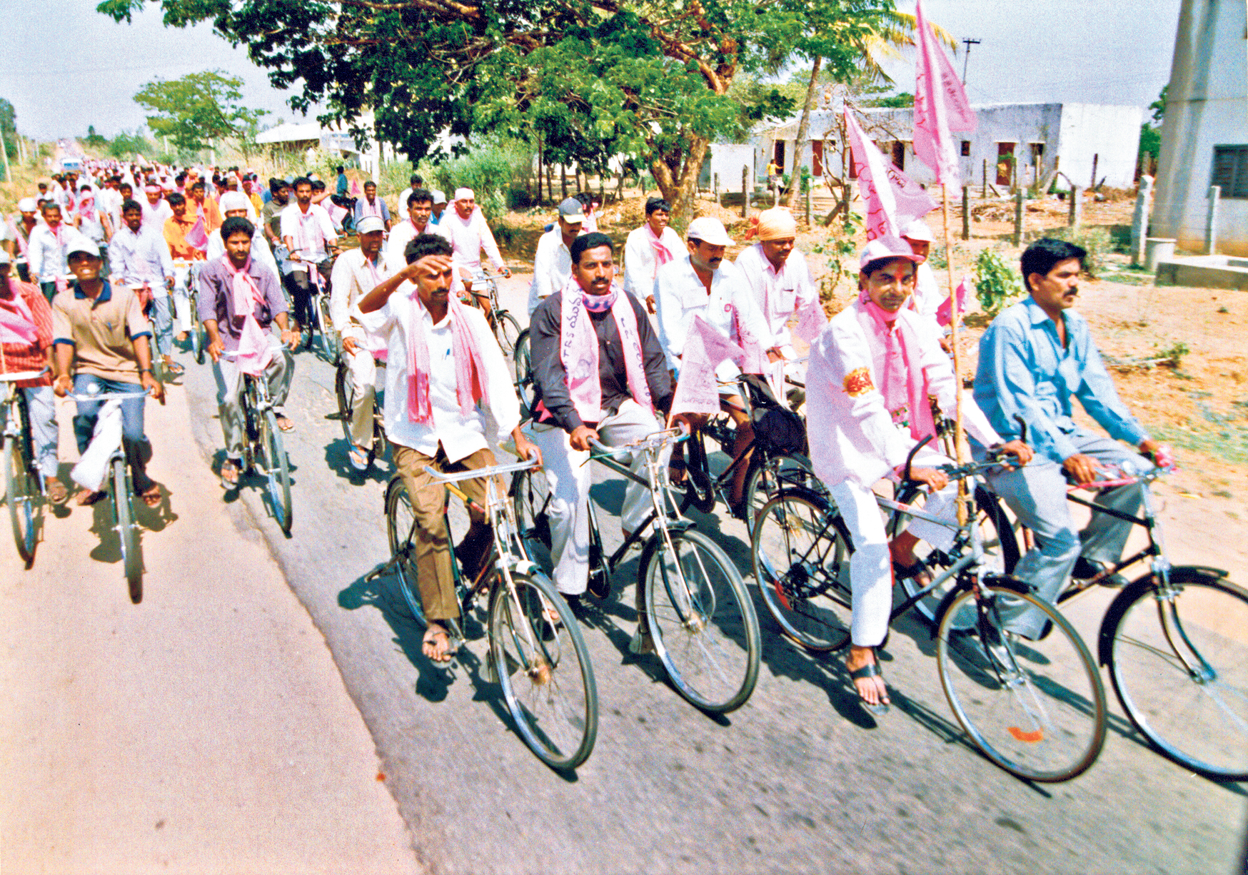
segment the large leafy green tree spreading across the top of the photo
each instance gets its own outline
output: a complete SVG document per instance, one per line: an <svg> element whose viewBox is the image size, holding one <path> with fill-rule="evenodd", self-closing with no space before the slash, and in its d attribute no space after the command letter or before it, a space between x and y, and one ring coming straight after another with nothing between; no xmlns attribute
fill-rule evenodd
<svg viewBox="0 0 1248 875"><path fill-rule="evenodd" d="M104 0L97 10L129 20L149 1ZM377 135L413 160L443 130L489 126L555 150L615 150L645 164L678 208L710 140L739 124L729 96L739 74L774 67L804 34L824 31L835 37L822 64L847 74L892 9L892 0L160 4L168 26L211 19L276 87L302 82L296 110L319 102L328 107L319 119L346 122L357 140L371 109Z"/></svg>

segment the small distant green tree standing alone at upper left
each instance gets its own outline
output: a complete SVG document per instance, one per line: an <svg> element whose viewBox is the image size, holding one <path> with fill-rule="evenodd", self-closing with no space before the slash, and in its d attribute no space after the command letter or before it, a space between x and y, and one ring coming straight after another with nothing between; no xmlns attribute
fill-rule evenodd
<svg viewBox="0 0 1248 875"><path fill-rule="evenodd" d="M192 72L181 79L155 79L135 95L135 102L154 112L147 126L183 151L211 149L213 141L255 137L256 124L268 110L240 105L242 80L220 70Z"/></svg>

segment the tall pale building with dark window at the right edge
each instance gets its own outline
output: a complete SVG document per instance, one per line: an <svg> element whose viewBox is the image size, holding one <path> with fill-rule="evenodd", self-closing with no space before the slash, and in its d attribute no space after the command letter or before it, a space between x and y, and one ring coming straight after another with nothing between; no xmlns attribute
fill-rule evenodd
<svg viewBox="0 0 1248 875"><path fill-rule="evenodd" d="M1248 255L1248 11L1183 0L1162 122L1149 235L1204 251L1209 186L1222 190L1218 250Z"/></svg>

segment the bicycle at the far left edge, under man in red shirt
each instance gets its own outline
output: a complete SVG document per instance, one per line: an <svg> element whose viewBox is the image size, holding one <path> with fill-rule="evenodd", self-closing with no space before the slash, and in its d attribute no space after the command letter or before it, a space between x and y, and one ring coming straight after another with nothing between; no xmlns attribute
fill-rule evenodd
<svg viewBox="0 0 1248 875"><path fill-rule="evenodd" d="M17 555L26 563L26 568L35 564L35 550L42 529L45 484L35 463L26 396L17 388L17 383L36 379L45 373L47 368L0 373L0 381L6 383L5 397L0 402L0 419L4 421L4 494Z"/></svg>

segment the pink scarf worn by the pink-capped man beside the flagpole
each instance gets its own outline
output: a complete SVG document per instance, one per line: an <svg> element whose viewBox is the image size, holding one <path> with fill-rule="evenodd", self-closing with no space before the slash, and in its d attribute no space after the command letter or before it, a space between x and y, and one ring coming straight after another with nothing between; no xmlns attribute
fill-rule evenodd
<svg viewBox="0 0 1248 875"><path fill-rule="evenodd" d="M927 376L922 371L919 335L867 296L859 292L859 323L871 346L872 364L880 382L884 406L899 426L906 426L910 436L921 441L936 434L931 402L927 399ZM884 346L877 342L884 333Z"/></svg>

